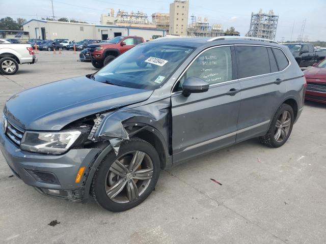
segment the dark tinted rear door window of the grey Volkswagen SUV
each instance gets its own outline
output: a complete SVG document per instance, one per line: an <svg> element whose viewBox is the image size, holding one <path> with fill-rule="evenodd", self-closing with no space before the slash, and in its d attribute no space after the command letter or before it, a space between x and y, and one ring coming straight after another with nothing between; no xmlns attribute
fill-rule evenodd
<svg viewBox="0 0 326 244"><path fill-rule="evenodd" d="M239 79L270 73L266 47L235 46L235 52Z"/></svg>

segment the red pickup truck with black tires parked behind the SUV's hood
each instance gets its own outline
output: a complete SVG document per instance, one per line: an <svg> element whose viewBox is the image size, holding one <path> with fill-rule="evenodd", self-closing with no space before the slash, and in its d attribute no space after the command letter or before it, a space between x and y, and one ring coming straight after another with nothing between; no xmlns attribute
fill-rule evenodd
<svg viewBox="0 0 326 244"><path fill-rule="evenodd" d="M98 69L102 68L121 53L143 42L144 39L142 37L127 36L115 37L107 43L90 44L88 45L88 49L91 53L92 65Z"/></svg>

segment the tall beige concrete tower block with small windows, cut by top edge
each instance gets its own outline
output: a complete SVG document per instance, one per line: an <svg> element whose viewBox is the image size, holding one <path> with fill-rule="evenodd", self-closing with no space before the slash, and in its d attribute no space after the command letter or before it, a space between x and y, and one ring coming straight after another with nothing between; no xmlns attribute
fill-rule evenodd
<svg viewBox="0 0 326 244"><path fill-rule="evenodd" d="M175 0L170 4L169 34L187 36L189 1Z"/></svg>

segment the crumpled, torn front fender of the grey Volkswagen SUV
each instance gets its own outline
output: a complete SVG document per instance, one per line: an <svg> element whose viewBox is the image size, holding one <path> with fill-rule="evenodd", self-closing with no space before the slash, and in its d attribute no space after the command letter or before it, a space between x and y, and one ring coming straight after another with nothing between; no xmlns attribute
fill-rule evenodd
<svg viewBox="0 0 326 244"><path fill-rule="evenodd" d="M166 130L168 136L168 114L170 111L170 99L157 101L132 109L122 109L109 112L105 115L96 138L109 140L115 154L119 154L120 145L124 140L129 140L129 134L123 123L135 121L148 124L159 131Z"/></svg>

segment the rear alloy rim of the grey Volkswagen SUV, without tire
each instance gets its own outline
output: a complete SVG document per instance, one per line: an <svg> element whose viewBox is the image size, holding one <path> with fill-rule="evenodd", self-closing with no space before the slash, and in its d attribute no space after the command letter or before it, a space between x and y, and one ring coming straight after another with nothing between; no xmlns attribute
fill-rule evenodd
<svg viewBox="0 0 326 244"><path fill-rule="evenodd" d="M291 128L291 119L291 113L287 110L284 110L278 117L274 132L274 139L276 142L282 142L283 140L286 140Z"/></svg>

